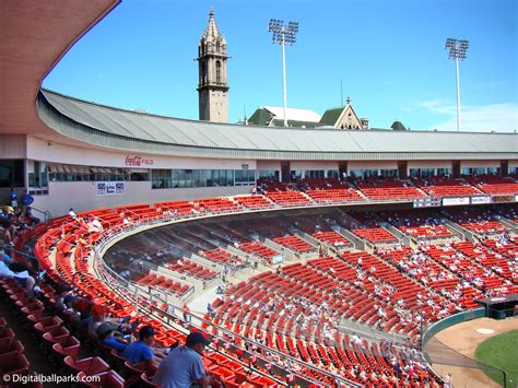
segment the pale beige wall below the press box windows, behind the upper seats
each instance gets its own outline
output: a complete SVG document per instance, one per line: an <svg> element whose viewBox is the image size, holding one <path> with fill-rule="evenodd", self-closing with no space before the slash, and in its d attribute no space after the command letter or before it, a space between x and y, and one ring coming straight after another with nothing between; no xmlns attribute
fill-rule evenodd
<svg viewBox="0 0 518 388"><path fill-rule="evenodd" d="M49 196L35 196L33 207L39 210L48 210L55 217L66 214L70 208L82 211L116 208L130 203L234 196L250 193L250 186L152 190L151 181L127 181L125 183L125 192L120 196L97 196L96 186L93 181L51 181L49 183Z"/></svg>

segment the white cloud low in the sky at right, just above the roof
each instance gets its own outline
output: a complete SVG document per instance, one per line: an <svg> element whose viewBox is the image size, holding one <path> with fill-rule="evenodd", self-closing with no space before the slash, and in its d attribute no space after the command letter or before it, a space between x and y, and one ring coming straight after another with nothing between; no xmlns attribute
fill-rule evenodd
<svg viewBox="0 0 518 388"><path fill-rule="evenodd" d="M439 131L457 130L457 105L442 101L428 101L420 106L438 115L448 116L429 129ZM513 132L518 130L517 104L491 104L481 106L461 106L460 129L466 132Z"/></svg>

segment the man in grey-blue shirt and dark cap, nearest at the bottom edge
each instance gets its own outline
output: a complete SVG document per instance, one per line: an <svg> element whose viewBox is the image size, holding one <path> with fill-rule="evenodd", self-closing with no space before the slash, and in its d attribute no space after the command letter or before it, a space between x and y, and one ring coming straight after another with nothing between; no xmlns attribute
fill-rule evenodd
<svg viewBox="0 0 518 388"><path fill-rule="evenodd" d="M162 388L208 387L214 381L205 374L202 354L210 341L199 331L187 336L185 346L177 346L161 363L153 383Z"/></svg>

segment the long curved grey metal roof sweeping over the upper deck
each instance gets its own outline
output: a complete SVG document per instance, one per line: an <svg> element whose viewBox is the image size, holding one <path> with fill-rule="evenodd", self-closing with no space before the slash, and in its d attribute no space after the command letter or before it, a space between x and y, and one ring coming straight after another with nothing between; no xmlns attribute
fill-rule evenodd
<svg viewBox="0 0 518 388"><path fill-rule="evenodd" d="M195 157L281 160L518 158L516 133L337 131L185 120L108 107L43 91L42 120L105 148Z"/></svg>

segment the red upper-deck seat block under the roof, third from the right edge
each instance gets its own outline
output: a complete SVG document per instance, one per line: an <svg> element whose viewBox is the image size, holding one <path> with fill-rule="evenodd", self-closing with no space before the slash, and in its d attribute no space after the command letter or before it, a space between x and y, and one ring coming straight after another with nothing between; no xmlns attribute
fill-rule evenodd
<svg viewBox="0 0 518 388"><path fill-rule="evenodd" d="M411 183L400 180L376 179L358 181L356 185L366 197L374 200L426 198L426 195Z"/></svg>

